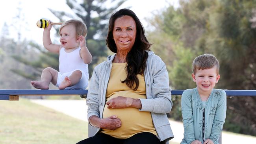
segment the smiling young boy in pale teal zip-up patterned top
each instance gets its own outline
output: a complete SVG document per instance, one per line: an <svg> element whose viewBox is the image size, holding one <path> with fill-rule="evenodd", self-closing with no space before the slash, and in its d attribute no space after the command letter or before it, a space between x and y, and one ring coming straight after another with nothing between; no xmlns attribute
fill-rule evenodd
<svg viewBox="0 0 256 144"><path fill-rule="evenodd" d="M226 93L213 89L218 83L219 61L203 54L193 61L195 89L187 89L181 98L184 138L181 144L218 144L226 118Z"/></svg>

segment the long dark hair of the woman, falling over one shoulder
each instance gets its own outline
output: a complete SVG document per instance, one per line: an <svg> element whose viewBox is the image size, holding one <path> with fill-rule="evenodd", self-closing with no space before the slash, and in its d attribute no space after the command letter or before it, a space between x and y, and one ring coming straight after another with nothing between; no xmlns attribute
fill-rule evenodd
<svg viewBox="0 0 256 144"><path fill-rule="evenodd" d="M127 77L122 83L126 83L130 89L137 90L139 87L139 79L137 78L137 74L144 74L144 70L146 68L146 61L148 59L148 53L146 50L150 50L151 44L148 42L144 28L139 21L139 18L135 15L133 11L130 9L120 9L116 13L113 13L109 19L109 27L108 27L108 37L106 39L106 44L112 52L117 52L117 46L113 39L113 29L114 23L117 18L122 16L130 16L134 19L136 23L136 38L134 42L134 46L128 54L126 55L126 73ZM135 87L133 87L135 83Z"/></svg>

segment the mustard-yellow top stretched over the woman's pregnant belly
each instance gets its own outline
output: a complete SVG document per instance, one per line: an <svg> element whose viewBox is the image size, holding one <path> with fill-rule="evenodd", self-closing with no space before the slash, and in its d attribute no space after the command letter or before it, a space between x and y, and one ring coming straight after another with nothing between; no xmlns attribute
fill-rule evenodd
<svg viewBox="0 0 256 144"><path fill-rule="evenodd" d="M125 83L121 83L126 79L127 63L113 63L108 88L106 92L106 100L116 98L117 96L124 96L130 98L146 98L145 79L142 75L137 75L139 79L139 87L137 90L131 90ZM115 138L125 139L141 132L150 132L157 135L154 128L150 112L139 111L137 108L124 109L108 109L105 105L103 111L103 118L111 115L117 115L122 121L122 126L115 130L102 129L102 133L111 135Z"/></svg>

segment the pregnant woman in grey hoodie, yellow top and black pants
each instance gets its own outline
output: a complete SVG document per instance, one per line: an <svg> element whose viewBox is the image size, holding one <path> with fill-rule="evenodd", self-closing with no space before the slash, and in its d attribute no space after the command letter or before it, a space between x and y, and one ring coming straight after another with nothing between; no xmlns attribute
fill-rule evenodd
<svg viewBox="0 0 256 144"><path fill-rule="evenodd" d="M108 48L114 55L95 67L87 95L95 136L77 144L163 144L173 138L166 113L173 103L168 72L150 51L144 28L129 9L109 20Z"/></svg>

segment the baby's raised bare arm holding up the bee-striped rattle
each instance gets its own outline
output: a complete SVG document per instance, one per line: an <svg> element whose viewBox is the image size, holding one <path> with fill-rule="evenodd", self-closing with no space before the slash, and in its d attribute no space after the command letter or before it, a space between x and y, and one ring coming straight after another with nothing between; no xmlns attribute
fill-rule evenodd
<svg viewBox="0 0 256 144"><path fill-rule="evenodd" d="M59 49L61 48L60 44L53 44L50 38L50 30L52 29L51 21L49 20L49 25L44 28L43 32L43 45L46 50L59 54Z"/></svg>

